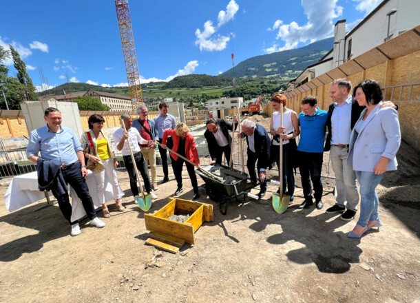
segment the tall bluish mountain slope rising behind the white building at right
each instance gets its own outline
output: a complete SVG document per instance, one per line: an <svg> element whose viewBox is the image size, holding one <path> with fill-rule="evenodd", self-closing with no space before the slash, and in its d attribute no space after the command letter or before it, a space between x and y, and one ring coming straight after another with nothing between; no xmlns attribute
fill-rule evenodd
<svg viewBox="0 0 420 303"><path fill-rule="evenodd" d="M275 77L294 79L306 66L317 63L333 48L334 38L323 39L295 50L273 52L246 59L220 76L235 78Z"/></svg>

